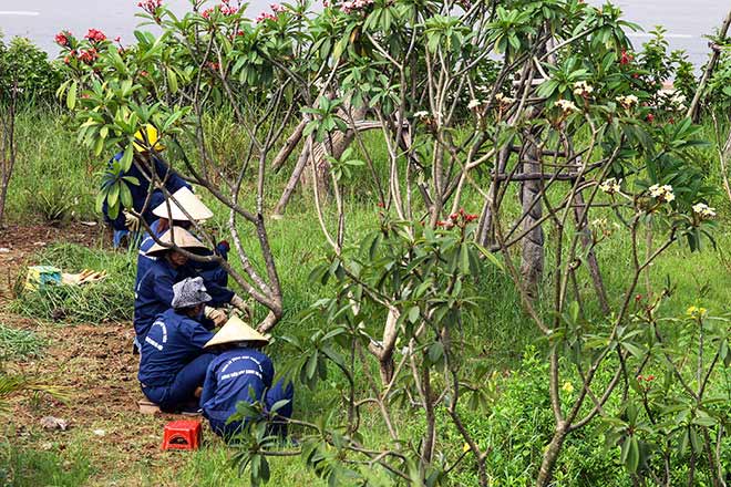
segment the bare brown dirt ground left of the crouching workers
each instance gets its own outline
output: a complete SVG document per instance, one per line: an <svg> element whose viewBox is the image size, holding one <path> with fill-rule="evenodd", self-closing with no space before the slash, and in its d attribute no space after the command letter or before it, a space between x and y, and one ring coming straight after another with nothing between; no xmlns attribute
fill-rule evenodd
<svg viewBox="0 0 731 487"><path fill-rule="evenodd" d="M100 229L75 225L66 229L16 227L0 234L0 322L33 330L47 339L40 359L8 364L40 383L64 388L62 402L42 394L11 401L12 443L31 449L81 448L95 472L94 485L148 485L145 467L163 462L163 426L177 418L138 413L137 359L131 354L132 324L47 323L7 312L12 288L23 266L39 248L53 241L97 245ZM40 426L43 416L69 422L66 432ZM167 466L182 457L164 458ZM175 485L174 483L171 485Z"/></svg>

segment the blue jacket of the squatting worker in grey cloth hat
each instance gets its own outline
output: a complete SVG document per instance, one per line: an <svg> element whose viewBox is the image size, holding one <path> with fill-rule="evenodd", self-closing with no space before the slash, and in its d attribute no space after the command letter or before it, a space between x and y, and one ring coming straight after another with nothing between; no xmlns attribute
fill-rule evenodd
<svg viewBox="0 0 731 487"><path fill-rule="evenodd" d="M191 361L203 353L213 338L203 324L169 309L150 328L140 349L137 379L150 387L171 384Z"/></svg>

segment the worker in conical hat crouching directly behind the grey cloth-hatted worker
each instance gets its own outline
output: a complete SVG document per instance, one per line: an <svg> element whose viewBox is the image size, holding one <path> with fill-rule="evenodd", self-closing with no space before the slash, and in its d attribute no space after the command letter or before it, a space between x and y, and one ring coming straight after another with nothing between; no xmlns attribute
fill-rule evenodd
<svg viewBox="0 0 731 487"><path fill-rule="evenodd" d="M173 284L185 278L198 277L196 270L188 262L188 256L173 249L171 246L175 244L177 248L196 255L207 251L206 246L200 240L179 227L168 229L159 237L159 241L161 244L155 244L147 251L148 256L157 259L152 262L135 289L133 323L138 343L144 341L155 317L171 307ZM246 302L234 291L205 279L204 283L212 296L210 303L213 307L218 308L230 304L248 313ZM224 313L213 307L205 308L205 317L214 322L223 321L225 319Z"/></svg>

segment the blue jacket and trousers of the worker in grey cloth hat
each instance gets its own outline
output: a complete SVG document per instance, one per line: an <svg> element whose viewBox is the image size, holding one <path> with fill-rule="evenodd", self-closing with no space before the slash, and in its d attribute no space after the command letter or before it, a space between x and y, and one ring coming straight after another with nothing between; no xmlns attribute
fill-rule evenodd
<svg viewBox="0 0 731 487"><path fill-rule="evenodd" d="M203 353L213 336L198 321L173 309L157 315L140 350L137 379L145 396L165 411L193 402L216 356Z"/></svg>

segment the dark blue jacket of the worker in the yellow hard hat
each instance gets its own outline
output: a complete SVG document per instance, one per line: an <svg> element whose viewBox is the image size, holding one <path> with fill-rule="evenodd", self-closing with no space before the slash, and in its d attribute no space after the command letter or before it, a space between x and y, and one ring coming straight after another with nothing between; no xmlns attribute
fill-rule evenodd
<svg viewBox="0 0 731 487"><path fill-rule="evenodd" d="M114 154L114 157L112 157L112 159L109 162L107 170L110 170L112 168L112 164L115 160L120 160L123 155L124 153L122 152ZM153 158L153 160L155 165L155 173L157 173L157 177L161 180L165 179L165 176L168 173L167 166L157 158ZM132 163L132 167L130 167L130 170L116 175L115 180L124 176L136 177L137 180L140 182L138 185L127 183L127 187L130 188L130 193L132 194L132 207L134 208L135 211L140 213L140 210L142 210L142 207L145 205L145 199L147 199L147 191L150 190L150 180L147 180L147 176L143 175L143 173L140 170L137 165L134 163ZM176 173L171 172L169 176L167 177L167 183L165 184L167 190L169 193L175 193L178 189L181 189L183 186L187 188L191 187L191 185L188 185L185 182L185 179L183 179ZM150 203L147 204L147 208L143 214L143 218L145 219L145 221L147 221L147 225L150 225L151 222L157 219L157 217L153 215L152 210L156 206L161 205L164 200L165 200L165 195L161 189L153 190L153 194L150 196ZM116 216L115 219L110 218L109 206L106 204L106 200L102 206L102 213L104 214L104 220L107 224L110 224L115 230L124 230L126 228L124 225L124 215L122 214L122 211L120 211L120 214Z"/></svg>

